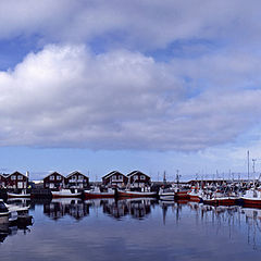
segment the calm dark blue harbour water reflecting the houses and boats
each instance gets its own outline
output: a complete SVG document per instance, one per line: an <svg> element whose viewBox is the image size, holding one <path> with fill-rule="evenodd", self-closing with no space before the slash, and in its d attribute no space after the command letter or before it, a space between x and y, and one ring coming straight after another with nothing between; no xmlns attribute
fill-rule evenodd
<svg viewBox="0 0 261 261"><path fill-rule="evenodd" d="M1 261L261 257L261 210L148 199L28 203L33 226L0 227Z"/></svg>

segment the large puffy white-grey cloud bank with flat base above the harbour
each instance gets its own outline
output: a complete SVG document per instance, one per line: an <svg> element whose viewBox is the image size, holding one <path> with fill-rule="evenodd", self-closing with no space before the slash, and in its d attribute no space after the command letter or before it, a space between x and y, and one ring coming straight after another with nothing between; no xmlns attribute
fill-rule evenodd
<svg viewBox="0 0 261 261"><path fill-rule="evenodd" d="M0 73L0 145L190 151L259 121L259 89L189 97L182 76L138 52L47 46Z"/></svg>

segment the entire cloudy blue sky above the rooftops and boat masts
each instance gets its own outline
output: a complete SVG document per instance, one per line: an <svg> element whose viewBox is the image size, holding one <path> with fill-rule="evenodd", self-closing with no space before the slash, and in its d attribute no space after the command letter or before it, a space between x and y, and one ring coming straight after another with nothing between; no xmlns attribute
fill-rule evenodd
<svg viewBox="0 0 261 261"><path fill-rule="evenodd" d="M0 172L261 172L258 0L1 0ZM253 161L254 170L253 170Z"/></svg>

